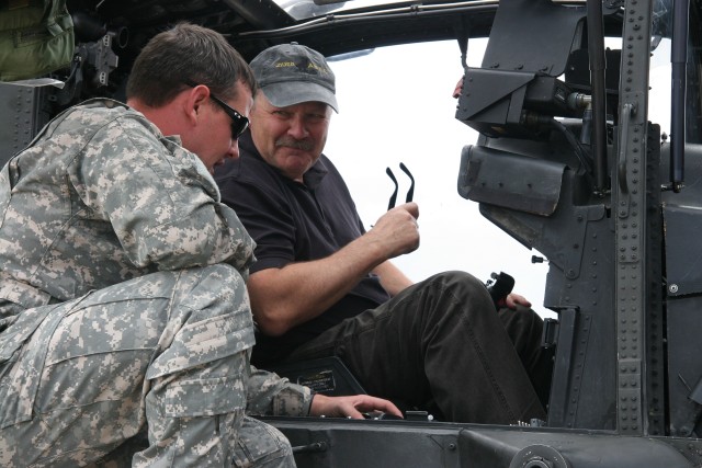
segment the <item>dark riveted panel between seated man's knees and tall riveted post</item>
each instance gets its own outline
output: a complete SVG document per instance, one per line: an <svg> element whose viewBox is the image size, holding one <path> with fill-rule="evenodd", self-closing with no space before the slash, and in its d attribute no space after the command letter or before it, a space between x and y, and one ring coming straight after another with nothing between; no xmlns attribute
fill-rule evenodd
<svg viewBox="0 0 702 468"><path fill-rule="evenodd" d="M550 261L544 306L559 316L548 425L614 429L616 367L611 219L600 204L573 205L577 175L566 170L548 217L480 204L480 213Z"/></svg>

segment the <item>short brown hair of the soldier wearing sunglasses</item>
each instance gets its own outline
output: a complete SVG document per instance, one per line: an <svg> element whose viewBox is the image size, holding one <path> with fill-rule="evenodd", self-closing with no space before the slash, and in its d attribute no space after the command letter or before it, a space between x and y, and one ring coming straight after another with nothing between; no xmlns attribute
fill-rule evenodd
<svg viewBox="0 0 702 468"><path fill-rule="evenodd" d="M154 36L141 49L127 80L126 95L159 107L188 83L195 83L205 84L214 94L228 100L235 98L237 81L256 94L256 79L249 65L222 34L179 23Z"/></svg>

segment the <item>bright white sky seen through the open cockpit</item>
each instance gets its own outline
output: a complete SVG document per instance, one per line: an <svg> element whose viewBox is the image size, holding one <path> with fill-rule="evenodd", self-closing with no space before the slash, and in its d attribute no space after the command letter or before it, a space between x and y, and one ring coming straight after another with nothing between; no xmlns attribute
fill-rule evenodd
<svg viewBox="0 0 702 468"><path fill-rule="evenodd" d="M479 66L483 46L472 42L468 65ZM664 52L666 42L657 52ZM652 87L665 96L669 88L669 60L655 54L660 66L652 73ZM456 190L461 149L476 142L477 134L454 118L451 94L463 75L455 41L375 49L363 57L331 61L337 76L339 114L331 118L325 153L344 176L366 229L387 209L394 184L385 174L390 167L399 182L398 204L404 202L408 178L415 176L419 204L421 244L394 260L410 278L463 270L482 281L503 271L516 279L514 292L524 295L544 317L546 263L531 263L529 250L485 219L478 205ZM660 80L667 83L658 84ZM655 94L654 94L655 95ZM658 122L667 122L666 99L649 104ZM664 130L667 130L664 123Z"/></svg>

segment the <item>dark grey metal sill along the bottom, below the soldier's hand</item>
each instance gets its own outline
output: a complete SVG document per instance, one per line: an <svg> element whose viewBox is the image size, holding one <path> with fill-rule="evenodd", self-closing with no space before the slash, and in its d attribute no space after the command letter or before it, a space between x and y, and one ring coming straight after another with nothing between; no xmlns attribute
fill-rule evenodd
<svg viewBox="0 0 702 468"><path fill-rule="evenodd" d="M264 418L299 468L693 467L700 441L479 424Z"/></svg>

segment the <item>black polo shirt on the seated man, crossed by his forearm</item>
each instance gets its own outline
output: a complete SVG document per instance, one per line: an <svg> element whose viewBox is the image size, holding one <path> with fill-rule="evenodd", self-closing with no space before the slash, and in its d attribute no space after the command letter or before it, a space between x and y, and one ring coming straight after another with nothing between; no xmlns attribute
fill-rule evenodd
<svg viewBox="0 0 702 468"><path fill-rule="evenodd" d="M239 159L217 168L215 180L222 201L236 210L256 240L257 261L251 273L324 259L365 231L349 189L326 156L305 173L303 184L268 164L249 133L239 139ZM280 361L330 327L388 298L377 276L367 275L319 317L282 336L260 335L253 362Z"/></svg>

